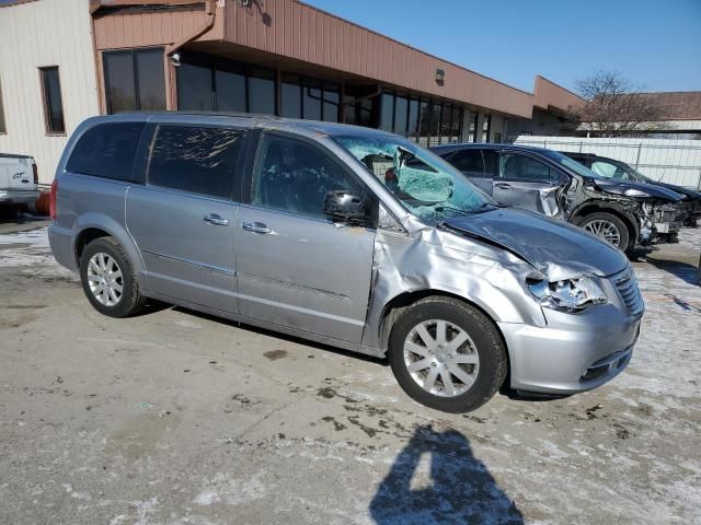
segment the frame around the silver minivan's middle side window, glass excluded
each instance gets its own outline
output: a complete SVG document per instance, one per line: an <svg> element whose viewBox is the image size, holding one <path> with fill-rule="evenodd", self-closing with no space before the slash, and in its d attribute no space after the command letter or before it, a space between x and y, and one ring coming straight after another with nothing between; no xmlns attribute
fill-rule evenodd
<svg viewBox="0 0 701 525"><path fill-rule="evenodd" d="M239 156L235 163L235 173L240 173L239 182L234 179L231 184L231 191L228 196L214 196L208 194L198 194L196 191L188 191L186 189L172 188L168 186L159 186L157 184L151 184L150 179L150 171L151 171L151 159L153 145L156 143L156 139L158 138L158 129L160 127L165 128L207 128L207 129L230 129L235 131L241 131L241 150L239 151ZM143 132L141 135L141 142L139 144L139 149L136 153L136 159L134 162L135 175L138 175L139 178L137 180L140 184L143 184L147 188L153 189L156 191L170 191L177 195L184 195L188 197L197 197L200 199L210 199L219 202L228 202L228 203L241 203L242 197L242 184L248 178L245 168L245 161L249 152L249 140L250 140L251 130L245 127L240 126L222 126L219 124L208 124L208 122L177 122L177 121L158 121L158 122L149 122L147 124ZM138 170L138 171L137 171Z"/></svg>

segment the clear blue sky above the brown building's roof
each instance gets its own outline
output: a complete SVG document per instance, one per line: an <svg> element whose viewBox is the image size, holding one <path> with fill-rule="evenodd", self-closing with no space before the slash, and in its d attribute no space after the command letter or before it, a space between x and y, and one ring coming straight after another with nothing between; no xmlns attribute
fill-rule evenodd
<svg viewBox="0 0 701 525"><path fill-rule="evenodd" d="M701 90L701 0L304 0L532 91L617 70L646 91Z"/></svg>

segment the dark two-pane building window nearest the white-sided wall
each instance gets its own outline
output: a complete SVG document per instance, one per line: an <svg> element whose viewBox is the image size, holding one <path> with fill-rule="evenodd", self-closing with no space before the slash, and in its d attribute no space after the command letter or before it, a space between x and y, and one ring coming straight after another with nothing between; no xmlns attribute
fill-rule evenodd
<svg viewBox="0 0 701 525"><path fill-rule="evenodd" d="M163 49L103 52L107 113L165 109Z"/></svg>

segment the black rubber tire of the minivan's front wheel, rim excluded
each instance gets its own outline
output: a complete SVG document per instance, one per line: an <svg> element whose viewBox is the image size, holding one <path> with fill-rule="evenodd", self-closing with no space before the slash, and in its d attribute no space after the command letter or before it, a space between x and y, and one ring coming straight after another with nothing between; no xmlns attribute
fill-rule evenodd
<svg viewBox="0 0 701 525"><path fill-rule="evenodd" d="M422 322L445 319L466 330L480 357L478 378L456 397L440 397L424 390L412 378L404 363L406 336ZM504 383L507 372L506 349L494 323L474 306L462 301L432 296L409 306L394 323L390 334L388 358L394 377L415 401L444 412L470 412L489 401Z"/></svg>

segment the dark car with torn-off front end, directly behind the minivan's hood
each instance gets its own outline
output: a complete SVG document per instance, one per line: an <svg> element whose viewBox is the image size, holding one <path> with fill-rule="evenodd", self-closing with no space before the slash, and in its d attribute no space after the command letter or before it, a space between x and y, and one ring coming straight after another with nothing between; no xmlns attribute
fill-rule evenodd
<svg viewBox="0 0 701 525"><path fill-rule="evenodd" d="M508 144L450 144L433 151L497 202L570 222L623 252L674 240L681 228L681 195L601 177L556 151Z"/></svg>

